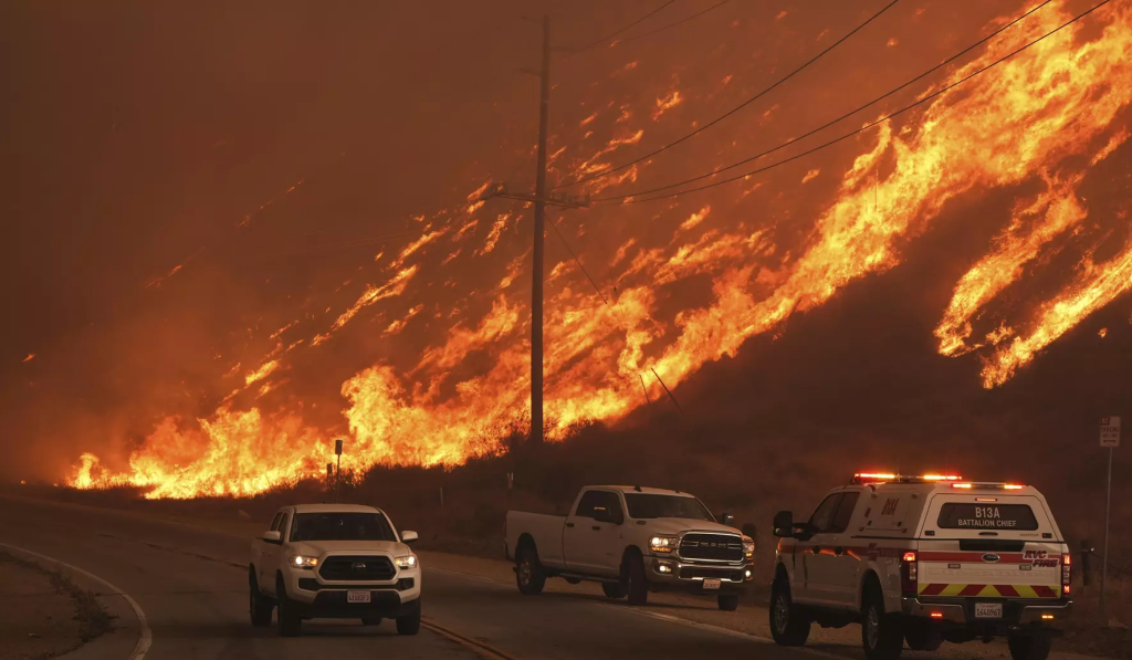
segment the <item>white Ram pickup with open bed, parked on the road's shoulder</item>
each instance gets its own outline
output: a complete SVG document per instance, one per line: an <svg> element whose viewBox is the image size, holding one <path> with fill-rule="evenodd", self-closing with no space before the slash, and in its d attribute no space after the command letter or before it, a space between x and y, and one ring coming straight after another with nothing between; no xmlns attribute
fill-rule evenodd
<svg viewBox="0 0 1132 660"><path fill-rule="evenodd" d="M732 611L752 578L755 542L687 492L638 486L583 488L567 516L507 512L507 559L520 592L547 577L600 582L609 598L644 605L650 591L712 594Z"/></svg>

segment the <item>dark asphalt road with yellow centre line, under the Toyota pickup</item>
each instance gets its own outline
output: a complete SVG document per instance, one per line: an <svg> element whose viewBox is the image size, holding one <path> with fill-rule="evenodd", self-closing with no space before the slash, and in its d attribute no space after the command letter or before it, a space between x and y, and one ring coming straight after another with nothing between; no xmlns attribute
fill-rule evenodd
<svg viewBox="0 0 1132 660"><path fill-rule="evenodd" d="M0 542L80 567L132 597L152 631L148 660L814 657L642 615L600 598L547 593L532 599L487 580L430 571L427 563L426 620L463 643L436 628L401 637L392 622L374 628L333 620L308 622L302 637L284 640L274 627L248 623L250 539L121 512L0 497ZM473 648L477 643L499 654Z"/></svg>

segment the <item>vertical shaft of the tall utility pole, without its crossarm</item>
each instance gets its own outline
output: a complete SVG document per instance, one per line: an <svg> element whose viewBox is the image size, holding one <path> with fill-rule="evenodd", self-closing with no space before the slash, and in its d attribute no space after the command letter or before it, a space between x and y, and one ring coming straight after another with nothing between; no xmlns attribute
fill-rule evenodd
<svg viewBox="0 0 1132 660"><path fill-rule="evenodd" d="M550 16L542 17L539 155L534 171L534 265L531 273L531 444L542 444L542 246L547 216L547 123L550 114Z"/></svg>

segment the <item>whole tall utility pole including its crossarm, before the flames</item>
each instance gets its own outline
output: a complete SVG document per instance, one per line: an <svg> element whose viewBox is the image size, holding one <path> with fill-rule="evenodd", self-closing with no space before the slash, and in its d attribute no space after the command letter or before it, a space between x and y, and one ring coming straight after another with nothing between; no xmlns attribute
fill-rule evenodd
<svg viewBox="0 0 1132 660"><path fill-rule="evenodd" d="M526 17L524 17L526 18ZM531 272L531 444L542 444L542 284L543 243L546 242L547 205L564 208L585 208L590 196L552 194L547 191L547 131L550 123L550 17L542 17L542 68L540 71L520 69L523 74L539 76L539 146L534 171L534 194L512 192L506 182L499 182L477 198L486 202L494 197L517 199L534 205L534 249Z"/></svg>

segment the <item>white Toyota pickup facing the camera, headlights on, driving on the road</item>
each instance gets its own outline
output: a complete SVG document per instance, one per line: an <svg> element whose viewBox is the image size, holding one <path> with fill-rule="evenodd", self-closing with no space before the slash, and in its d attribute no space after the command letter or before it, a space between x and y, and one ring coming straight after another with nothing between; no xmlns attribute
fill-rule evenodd
<svg viewBox="0 0 1132 660"><path fill-rule="evenodd" d="M303 619L353 618L378 625L396 620L397 633L421 625L421 568L381 509L349 504L281 508L251 543L248 564L252 626L269 626L277 609L280 634L298 636Z"/></svg>

